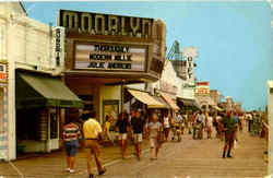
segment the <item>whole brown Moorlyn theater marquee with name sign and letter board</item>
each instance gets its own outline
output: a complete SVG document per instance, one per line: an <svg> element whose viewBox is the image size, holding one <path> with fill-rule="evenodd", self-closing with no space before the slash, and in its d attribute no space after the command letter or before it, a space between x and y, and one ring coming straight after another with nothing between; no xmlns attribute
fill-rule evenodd
<svg viewBox="0 0 273 178"><path fill-rule="evenodd" d="M159 79L166 52L162 20L60 10L58 26L66 29L64 64L71 78Z"/></svg>

